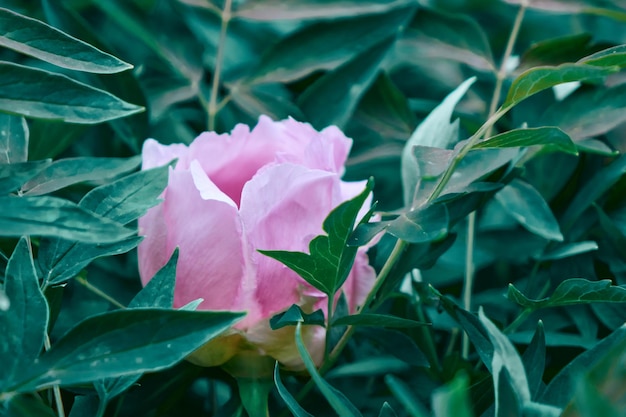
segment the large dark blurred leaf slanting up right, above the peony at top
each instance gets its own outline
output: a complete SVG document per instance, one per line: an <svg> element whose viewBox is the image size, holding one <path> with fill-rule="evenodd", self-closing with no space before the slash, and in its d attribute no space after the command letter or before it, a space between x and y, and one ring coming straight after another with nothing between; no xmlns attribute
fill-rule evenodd
<svg viewBox="0 0 626 417"><path fill-rule="evenodd" d="M381 40L395 36L412 10L413 7L402 8L308 25L263 55L251 82L289 82L317 70L334 69Z"/></svg>

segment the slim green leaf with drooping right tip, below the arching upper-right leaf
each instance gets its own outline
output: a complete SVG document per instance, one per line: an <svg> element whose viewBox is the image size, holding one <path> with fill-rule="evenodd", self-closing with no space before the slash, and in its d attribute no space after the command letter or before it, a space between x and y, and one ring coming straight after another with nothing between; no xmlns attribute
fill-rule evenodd
<svg viewBox="0 0 626 417"><path fill-rule="evenodd" d="M514 129L478 142L472 149L515 148L542 145L551 150L578 155L576 145L570 137L556 127Z"/></svg>

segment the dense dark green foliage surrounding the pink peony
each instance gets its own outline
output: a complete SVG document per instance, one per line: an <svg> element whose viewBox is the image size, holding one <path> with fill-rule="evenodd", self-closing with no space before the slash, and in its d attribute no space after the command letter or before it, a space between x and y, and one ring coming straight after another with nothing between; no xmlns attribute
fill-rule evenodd
<svg viewBox="0 0 626 417"><path fill-rule="evenodd" d="M176 255L140 288L135 221L167 167L134 171L146 138L261 114L342 128L382 213L351 237L358 201L329 216L336 264L268 255L332 292L385 232L366 308L337 307L312 379L276 368L271 415L626 412L624 2L0 7L0 414L245 412L242 384L182 360L239 315L172 310Z"/></svg>

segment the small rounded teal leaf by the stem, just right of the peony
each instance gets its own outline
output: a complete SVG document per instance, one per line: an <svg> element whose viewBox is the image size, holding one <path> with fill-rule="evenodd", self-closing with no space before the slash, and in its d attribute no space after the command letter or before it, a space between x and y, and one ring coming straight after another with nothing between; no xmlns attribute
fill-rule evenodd
<svg viewBox="0 0 626 417"><path fill-rule="evenodd" d="M448 210L443 204L431 204L401 214L392 220L387 232L409 243L441 240L448 233Z"/></svg>

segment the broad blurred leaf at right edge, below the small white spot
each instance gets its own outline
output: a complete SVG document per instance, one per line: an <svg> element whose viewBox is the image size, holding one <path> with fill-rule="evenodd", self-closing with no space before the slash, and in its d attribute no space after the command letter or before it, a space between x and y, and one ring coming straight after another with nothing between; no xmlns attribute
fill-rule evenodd
<svg viewBox="0 0 626 417"><path fill-rule="evenodd" d="M559 126L574 141L602 135L626 121L626 84L576 91L546 109L539 123Z"/></svg>

